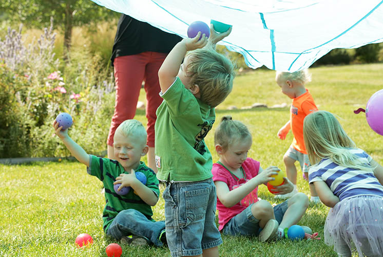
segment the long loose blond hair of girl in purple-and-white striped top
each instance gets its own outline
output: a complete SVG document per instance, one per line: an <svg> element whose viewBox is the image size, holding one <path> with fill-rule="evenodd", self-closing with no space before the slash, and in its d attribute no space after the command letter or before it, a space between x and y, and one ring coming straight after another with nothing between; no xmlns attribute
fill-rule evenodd
<svg viewBox="0 0 383 257"><path fill-rule="evenodd" d="M303 139L312 164L330 158L348 168L367 170L369 167L368 163L361 162L351 153L350 150L356 145L332 113L316 111L306 116L303 121Z"/></svg>

